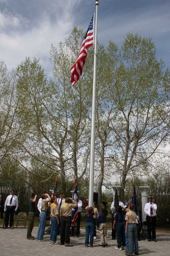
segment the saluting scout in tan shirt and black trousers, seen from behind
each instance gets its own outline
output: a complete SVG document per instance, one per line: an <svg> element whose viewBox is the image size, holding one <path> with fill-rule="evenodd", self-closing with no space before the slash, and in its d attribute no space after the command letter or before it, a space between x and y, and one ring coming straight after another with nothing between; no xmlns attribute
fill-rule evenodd
<svg viewBox="0 0 170 256"><path fill-rule="evenodd" d="M61 218L61 236L59 244L73 246L70 244L70 228L72 209L77 207L77 203L72 198L66 198L65 203L61 205L59 215Z"/></svg>

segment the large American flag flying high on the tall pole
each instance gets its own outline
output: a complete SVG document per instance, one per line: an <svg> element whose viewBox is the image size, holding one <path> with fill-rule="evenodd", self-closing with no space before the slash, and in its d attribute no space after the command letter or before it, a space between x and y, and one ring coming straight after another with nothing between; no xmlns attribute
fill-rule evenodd
<svg viewBox="0 0 170 256"><path fill-rule="evenodd" d="M78 59L74 64L74 66L71 67L70 69L70 72L72 73L71 79L70 79L72 85L76 84L80 76L82 75L82 70L85 65L85 59L87 58L87 55L88 55L88 48L94 45L93 18L94 18L94 15L91 19L91 22L88 26L88 30L85 34L85 38L82 42Z"/></svg>

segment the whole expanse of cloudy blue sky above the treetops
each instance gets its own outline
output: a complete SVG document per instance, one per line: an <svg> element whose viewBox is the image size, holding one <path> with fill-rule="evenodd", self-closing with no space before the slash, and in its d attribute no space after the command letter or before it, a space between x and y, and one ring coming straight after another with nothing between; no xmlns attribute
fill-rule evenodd
<svg viewBox="0 0 170 256"><path fill-rule="evenodd" d="M72 31L87 29L95 0L0 0L0 60L8 69L37 56L51 74L49 51ZM128 32L150 36L170 67L170 0L99 0L98 40L121 46Z"/></svg>

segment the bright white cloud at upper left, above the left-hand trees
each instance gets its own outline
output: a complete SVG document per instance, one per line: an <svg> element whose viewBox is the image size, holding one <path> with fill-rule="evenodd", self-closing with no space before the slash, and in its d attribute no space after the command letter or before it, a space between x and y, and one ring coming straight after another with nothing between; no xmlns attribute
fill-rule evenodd
<svg viewBox="0 0 170 256"><path fill-rule="evenodd" d="M56 22L51 22L47 12L43 12L33 27L30 20L21 15L0 12L0 58L9 69L17 67L26 56L37 56L45 72L50 73L51 43L55 46L67 37L74 27L72 9L77 0L57 4ZM59 19L57 19L57 15ZM24 30L25 29L25 30Z"/></svg>

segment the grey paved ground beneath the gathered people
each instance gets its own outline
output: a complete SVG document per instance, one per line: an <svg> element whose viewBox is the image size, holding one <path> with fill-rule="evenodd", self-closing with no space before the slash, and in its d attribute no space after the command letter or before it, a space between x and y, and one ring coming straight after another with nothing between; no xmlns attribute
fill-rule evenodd
<svg viewBox="0 0 170 256"><path fill-rule="evenodd" d="M36 237L37 228L34 228L32 235ZM99 233L97 239L94 241L93 248L86 248L85 243L85 230L81 230L79 238L71 238L74 247L65 247L64 245L51 245L49 244L49 235L44 236L44 242L37 242L36 240L26 239L25 228L14 228L14 230L3 230L0 227L0 256L124 256L124 251L114 250L116 240L111 240L108 237L108 247L99 247ZM170 235L157 234L158 242L148 242L147 240L139 241L139 254L149 256L163 256L170 255ZM59 241L59 238L57 239Z"/></svg>

